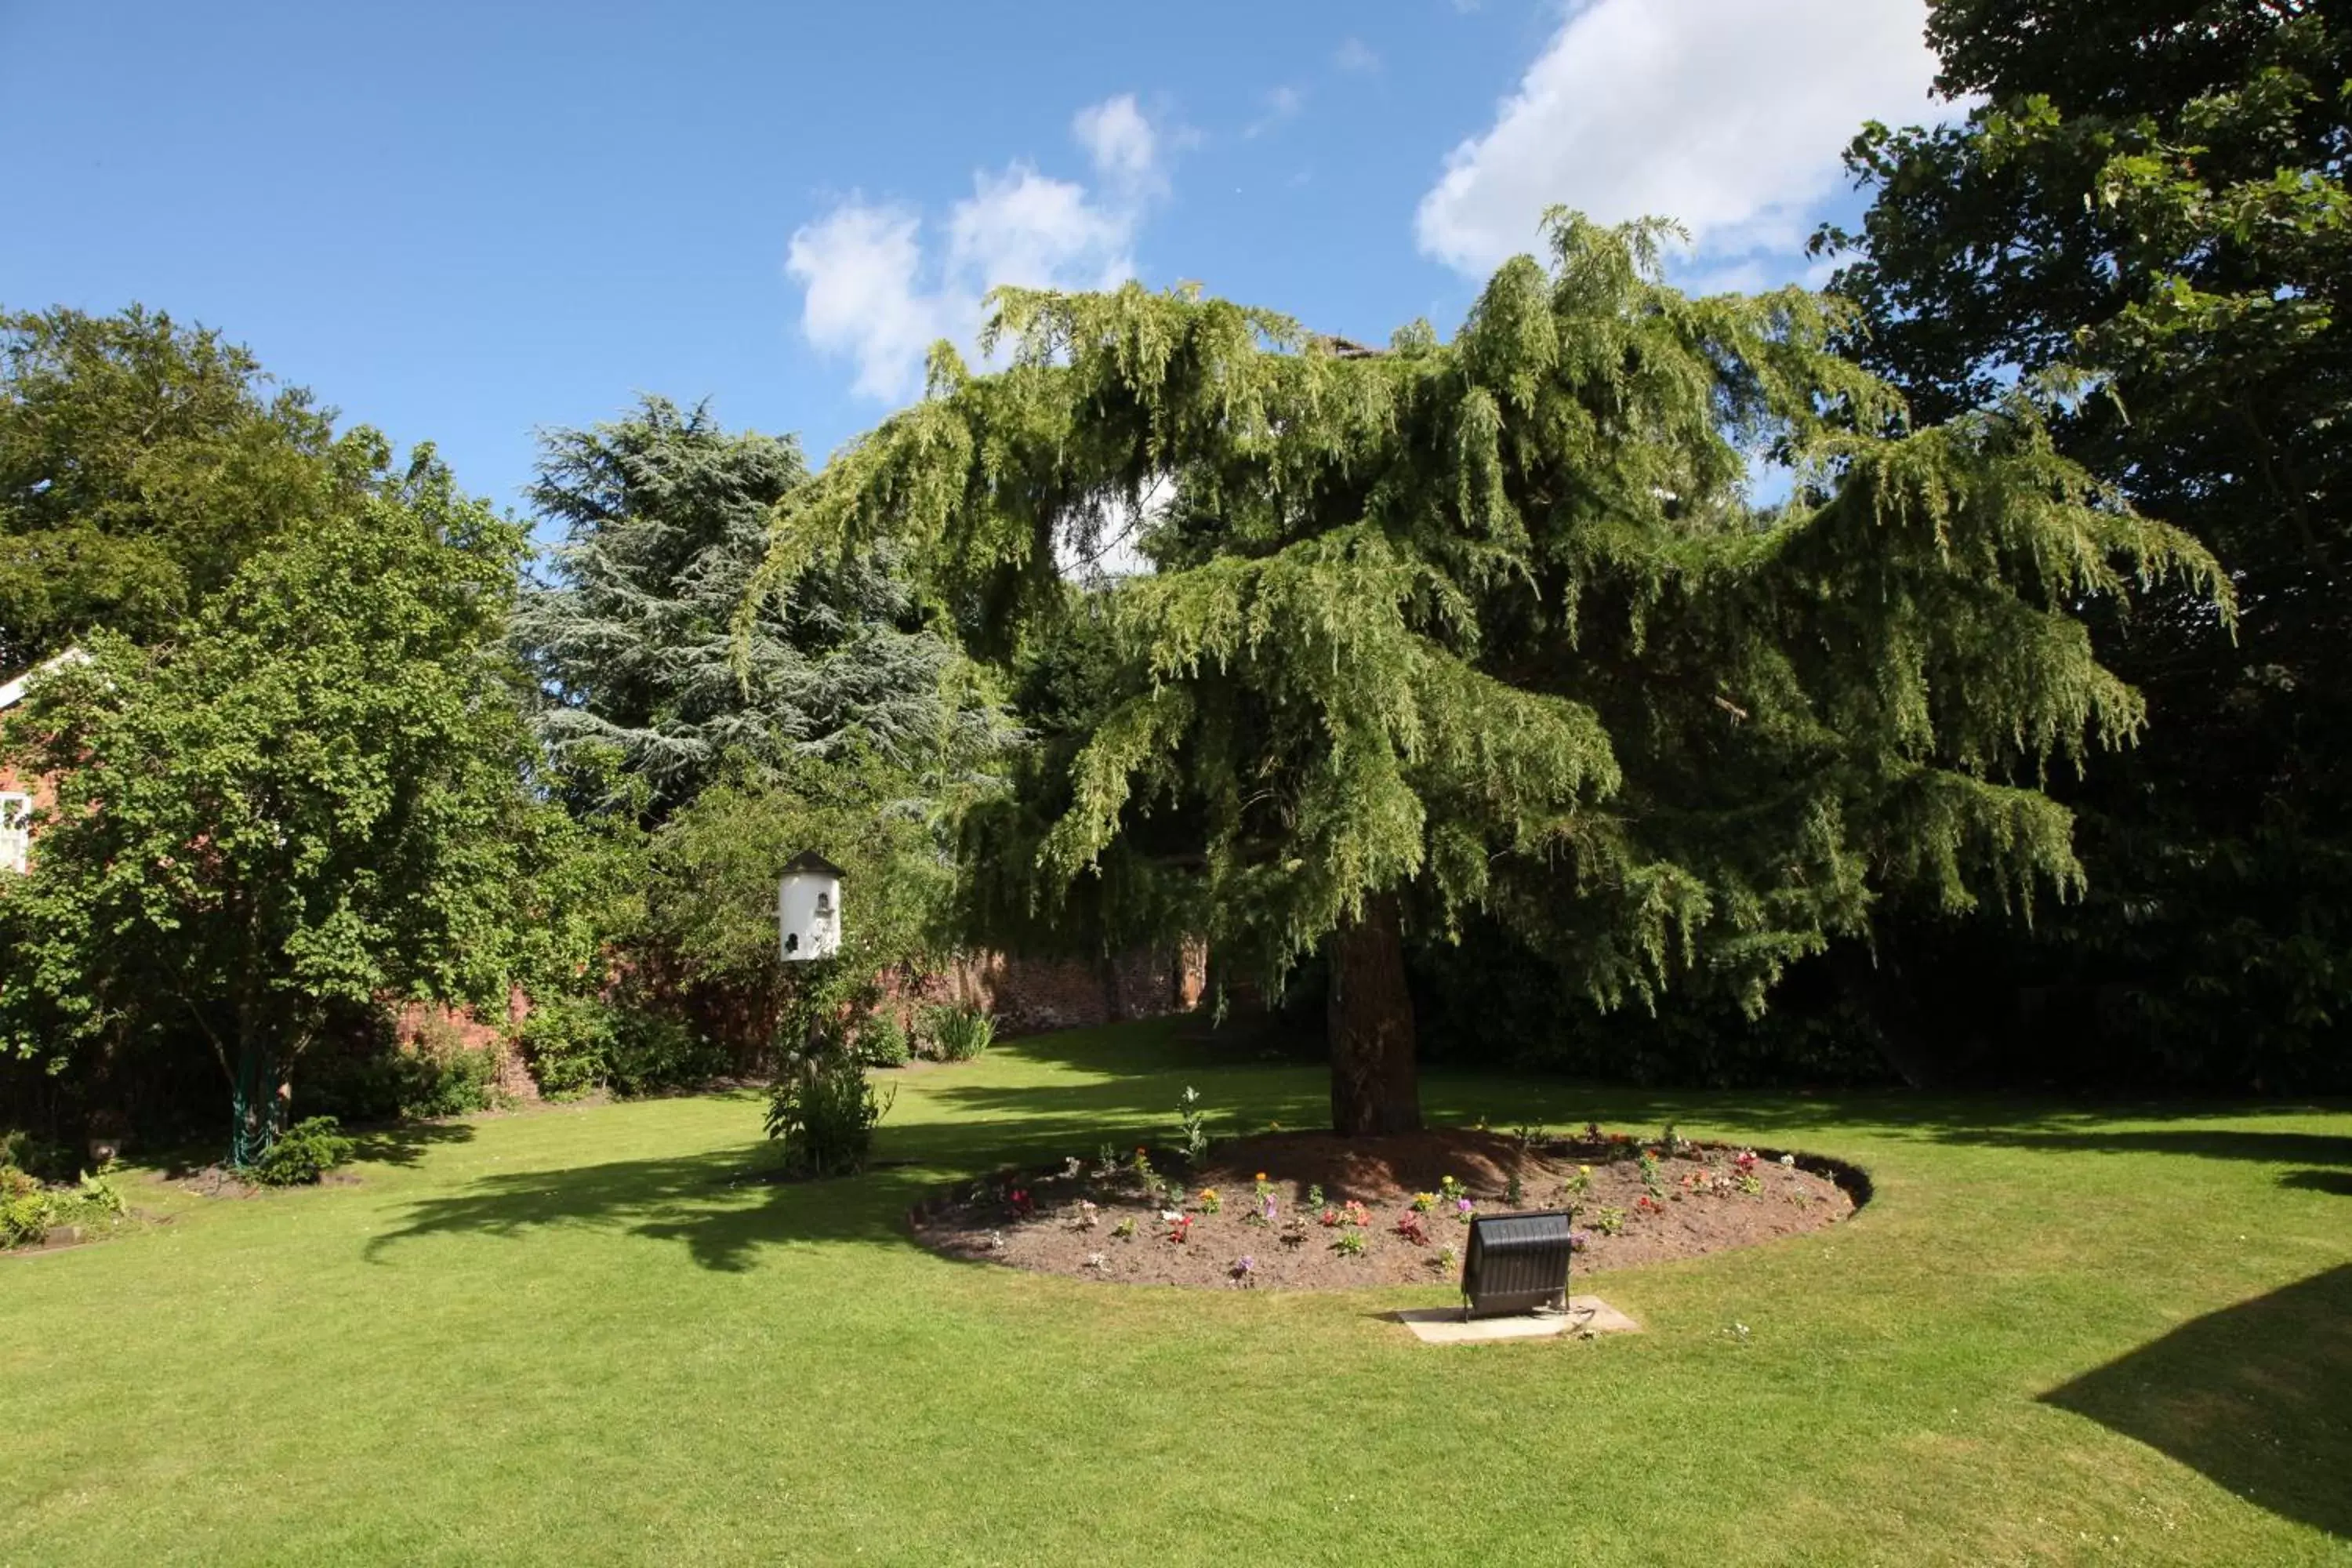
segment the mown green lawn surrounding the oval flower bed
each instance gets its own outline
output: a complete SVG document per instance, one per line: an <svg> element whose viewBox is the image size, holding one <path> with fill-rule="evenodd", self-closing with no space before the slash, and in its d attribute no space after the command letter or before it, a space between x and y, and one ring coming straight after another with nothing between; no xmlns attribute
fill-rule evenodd
<svg viewBox="0 0 2352 1568"><path fill-rule="evenodd" d="M1007 1157L1312 1124L1136 1025L901 1079L858 1180L753 1098L379 1138L355 1185L0 1260L0 1563L2343 1563L2352 1114L1428 1084L1432 1119L1842 1154L1816 1237L1592 1281L1642 1335L1421 1347L1442 1288L957 1265ZM1733 1324L1745 1324L1738 1335Z"/></svg>

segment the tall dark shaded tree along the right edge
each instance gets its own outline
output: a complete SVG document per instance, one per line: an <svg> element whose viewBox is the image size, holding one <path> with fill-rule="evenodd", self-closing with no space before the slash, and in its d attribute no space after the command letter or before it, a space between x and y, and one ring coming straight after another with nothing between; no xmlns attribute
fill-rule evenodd
<svg viewBox="0 0 2352 1568"><path fill-rule="evenodd" d="M2067 788L2086 903L1943 985L2124 990L2140 1077L2340 1081L2352 26L2305 0L1943 0L1931 42L1940 89L1983 101L1856 139L1872 207L1816 240L1863 306L1851 343L1931 418L2089 371L2056 449L2206 543L2241 611L2176 585L2091 614L2150 745ZM1962 952L1903 947L1922 976Z"/></svg>

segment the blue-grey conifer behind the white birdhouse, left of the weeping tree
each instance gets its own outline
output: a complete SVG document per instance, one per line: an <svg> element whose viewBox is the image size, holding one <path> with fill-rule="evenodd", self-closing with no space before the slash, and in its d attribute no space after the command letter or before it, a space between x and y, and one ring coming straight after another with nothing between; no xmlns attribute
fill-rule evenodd
<svg viewBox="0 0 2352 1568"><path fill-rule="evenodd" d="M769 508L802 480L793 440L661 397L546 437L532 501L567 536L515 635L553 693L539 726L560 764L616 750L661 816L729 764L858 743L938 769L993 748L988 705L887 550L802 574L734 635Z"/></svg>

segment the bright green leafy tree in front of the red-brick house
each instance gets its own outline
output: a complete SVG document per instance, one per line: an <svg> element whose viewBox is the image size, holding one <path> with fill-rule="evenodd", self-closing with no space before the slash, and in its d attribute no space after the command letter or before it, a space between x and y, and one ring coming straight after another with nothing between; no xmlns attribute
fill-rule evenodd
<svg viewBox="0 0 2352 1568"><path fill-rule="evenodd" d="M386 994L503 1001L536 860L506 656L522 534L430 449L254 555L169 642L115 632L7 726L59 773L33 872L0 889L0 1027L52 1067L195 1030L235 1157L294 1065ZM560 922L555 922L560 924ZM553 961L550 952L539 952Z"/></svg>

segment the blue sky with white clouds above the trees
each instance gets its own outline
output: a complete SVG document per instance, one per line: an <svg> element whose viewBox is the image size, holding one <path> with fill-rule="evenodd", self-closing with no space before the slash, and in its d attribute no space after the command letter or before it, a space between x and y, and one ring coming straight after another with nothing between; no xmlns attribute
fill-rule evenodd
<svg viewBox="0 0 2352 1568"><path fill-rule="evenodd" d="M1820 282L1926 0L0 0L0 308L132 301L522 508L642 393L811 461L995 282L1458 327L1545 207Z"/></svg>

